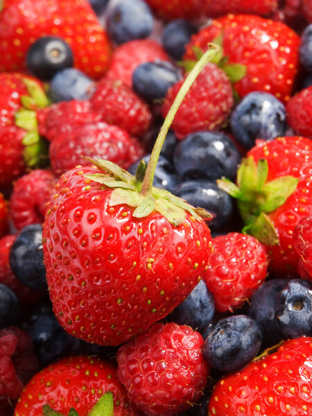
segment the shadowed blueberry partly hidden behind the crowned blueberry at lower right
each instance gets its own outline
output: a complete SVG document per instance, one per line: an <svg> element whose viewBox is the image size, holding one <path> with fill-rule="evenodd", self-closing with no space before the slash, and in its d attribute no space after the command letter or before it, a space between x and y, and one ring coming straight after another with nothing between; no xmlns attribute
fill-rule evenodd
<svg viewBox="0 0 312 416"><path fill-rule="evenodd" d="M275 324L275 308L279 292L287 282L288 279L280 278L264 281L250 298L248 315L257 322L263 343L268 347L279 343L282 338Z"/></svg>

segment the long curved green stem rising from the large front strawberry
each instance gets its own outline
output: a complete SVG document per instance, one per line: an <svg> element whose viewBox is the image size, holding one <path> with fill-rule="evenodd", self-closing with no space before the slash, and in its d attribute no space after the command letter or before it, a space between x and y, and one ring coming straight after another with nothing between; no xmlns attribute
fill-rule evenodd
<svg viewBox="0 0 312 416"><path fill-rule="evenodd" d="M164 140L166 139L166 135L171 126L171 123L173 122L175 114L177 110L179 109L184 99L184 96L186 96L187 92L191 88L191 85L193 84L193 82L196 80L196 77L198 76L200 71L202 71L202 69L205 67L207 62L209 62L209 60L214 58L214 55L216 55L216 53L220 49L218 46L214 44L208 44L208 46L209 46L208 51L206 51L204 55L202 55L202 58L200 58L200 60L196 63L195 67L193 67L193 69L190 71L182 87L177 93L175 100L173 101L173 104L171 105L171 108L168 111L168 114L166 115L166 119L164 119L164 123L162 125L162 128L159 131L159 134L155 141L152 154L150 155L148 166L146 168L146 173L145 173L144 180L143 180L142 187L141 187L142 196L150 196L152 193L153 180L154 180L157 162L159 159L159 154L160 154L160 151L162 150L162 145L164 144Z"/></svg>

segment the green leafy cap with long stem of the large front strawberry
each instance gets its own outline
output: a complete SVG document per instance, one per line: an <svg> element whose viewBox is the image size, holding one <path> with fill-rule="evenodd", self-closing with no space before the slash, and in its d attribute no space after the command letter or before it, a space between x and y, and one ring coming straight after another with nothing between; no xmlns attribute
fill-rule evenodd
<svg viewBox="0 0 312 416"><path fill-rule="evenodd" d="M110 205L126 204L130 207L135 207L133 216L135 218L144 218L153 211L158 211L168 221L177 226L184 223L186 212L188 211L195 220L202 220L211 218L205 209L195 208L189 205L182 198L174 196L172 193L153 187L153 180L155 169L159 154L162 150L162 145L166 139L166 135L171 126L173 118L186 96L198 73L205 67L205 64L218 52L218 46L209 44L208 51L202 55L202 58L197 62L195 67L191 70L187 79L184 81L180 91L173 101L171 109L168 111L166 119L159 131L159 135L155 141L155 146L150 155L150 160L146 165L142 160L137 168L136 175L130 175L127 171L120 168L112 162L107 160L88 159L89 162L95 164L103 173L85 175L87 179L93 180L103 185L104 188L113 188Z"/></svg>

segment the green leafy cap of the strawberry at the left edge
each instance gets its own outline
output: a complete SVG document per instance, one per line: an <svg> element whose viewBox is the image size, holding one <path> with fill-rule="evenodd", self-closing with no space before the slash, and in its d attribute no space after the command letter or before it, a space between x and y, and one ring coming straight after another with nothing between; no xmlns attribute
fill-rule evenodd
<svg viewBox="0 0 312 416"><path fill-rule="evenodd" d="M17 127L26 130L24 139L23 157L27 166L43 167L48 161L48 144L40 137L38 132L36 111L50 104L44 90L35 80L22 78L26 85L28 95L21 96L22 107L15 113L15 124Z"/></svg>

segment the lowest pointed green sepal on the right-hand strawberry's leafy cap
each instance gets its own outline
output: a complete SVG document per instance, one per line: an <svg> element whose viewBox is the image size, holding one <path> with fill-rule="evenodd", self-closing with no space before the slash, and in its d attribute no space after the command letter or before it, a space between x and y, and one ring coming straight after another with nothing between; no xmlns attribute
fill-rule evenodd
<svg viewBox="0 0 312 416"><path fill-rule="evenodd" d="M244 234L252 234L261 243L266 245L278 245L279 236L277 235L276 229L272 224L272 221L264 212L257 217L256 220L250 225L243 228Z"/></svg>

